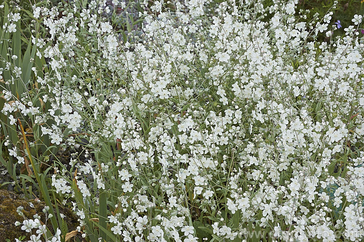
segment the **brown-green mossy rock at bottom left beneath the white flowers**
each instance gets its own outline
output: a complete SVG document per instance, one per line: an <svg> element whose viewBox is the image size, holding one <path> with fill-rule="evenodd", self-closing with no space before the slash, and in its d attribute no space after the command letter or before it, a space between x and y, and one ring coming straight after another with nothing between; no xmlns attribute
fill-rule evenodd
<svg viewBox="0 0 364 242"><path fill-rule="evenodd" d="M34 208L30 206L30 202L33 203ZM38 203L34 200L22 199L13 192L0 189L0 241L5 241L5 239L14 241L16 238L22 235L26 236L26 239L29 239L29 233L21 230L21 226L15 226L16 221L22 222L24 220L22 216L17 214L17 207L19 206L24 207L23 212L28 219L33 219L33 215L38 213L38 215L41 217L41 221L45 222L45 214L42 212L44 206L46 206L44 202ZM76 229L78 226L78 221L73 212L66 208L60 208L60 212L66 216L65 221L68 231ZM52 233L54 233L50 221L47 224L47 227Z"/></svg>

